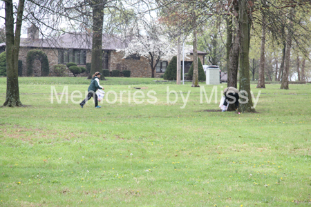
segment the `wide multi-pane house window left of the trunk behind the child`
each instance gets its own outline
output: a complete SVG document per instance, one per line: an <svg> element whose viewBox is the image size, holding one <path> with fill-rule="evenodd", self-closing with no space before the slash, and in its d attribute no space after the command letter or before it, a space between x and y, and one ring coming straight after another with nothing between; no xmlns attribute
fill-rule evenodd
<svg viewBox="0 0 311 207"><path fill-rule="evenodd" d="M66 64L68 62L85 65L86 50L58 50L58 63Z"/></svg>

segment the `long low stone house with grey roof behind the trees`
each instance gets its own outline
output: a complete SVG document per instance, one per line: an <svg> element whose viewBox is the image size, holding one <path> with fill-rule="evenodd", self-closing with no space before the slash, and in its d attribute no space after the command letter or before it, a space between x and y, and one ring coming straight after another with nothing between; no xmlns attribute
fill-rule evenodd
<svg viewBox="0 0 311 207"><path fill-rule="evenodd" d="M5 48L6 44L1 43L0 49ZM131 70L131 77L151 77L151 66L145 57L127 57L123 59L124 53L117 52L116 49L125 48L123 43L117 37L110 34L103 34L102 41L102 61L103 68L108 70ZM46 53L50 65L50 76L55 76L53 66L57 64L66 64L68 62L77 63L78 66L86 67L86 63L91 63L92 37L90 34L62 34L55 39L39 39L39 31L34 26L28 28L28 38L21 38L19 59L23 61L22 75L26 76L27 66L26 57L29 50L42 50ZM204 64L206 52L198 51L198 57ZM185 73L188 72L193 61L193 55L187 55L185 59ZM155 77L164 74L168 66L168 61L160 61L156 67ZM99 68L97 71L101 71ZM68 76L73 74L68 70ZM34 76L41 76L41 63L35 61ZM86 72L78 75L86 77Z"/></svg>

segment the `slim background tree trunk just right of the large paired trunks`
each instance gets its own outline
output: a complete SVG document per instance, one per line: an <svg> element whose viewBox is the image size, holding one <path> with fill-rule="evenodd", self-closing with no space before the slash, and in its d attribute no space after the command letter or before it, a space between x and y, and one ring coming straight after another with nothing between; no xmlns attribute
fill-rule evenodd
<svg viewBox="0 0 311 207"><path fill-rule="evenodd" d="M263 25L261 33L261 63L259 66L259 77L257 88L265 88L265 16L263 15Z"/></svg>

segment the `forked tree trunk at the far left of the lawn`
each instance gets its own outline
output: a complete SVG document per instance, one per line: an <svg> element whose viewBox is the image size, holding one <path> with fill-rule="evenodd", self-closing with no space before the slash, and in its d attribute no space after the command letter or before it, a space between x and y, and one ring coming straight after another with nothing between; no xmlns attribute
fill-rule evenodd
<svg viewBox="0 0 311 207"><path fill-rule="evenodd" d="M6 101L3 106L23 106L19 100L18 59L19 43L21 41L21 23L25 0L19 0L17 21L14 35L14 16L12 0L5 1L6 5Z"/></svg>

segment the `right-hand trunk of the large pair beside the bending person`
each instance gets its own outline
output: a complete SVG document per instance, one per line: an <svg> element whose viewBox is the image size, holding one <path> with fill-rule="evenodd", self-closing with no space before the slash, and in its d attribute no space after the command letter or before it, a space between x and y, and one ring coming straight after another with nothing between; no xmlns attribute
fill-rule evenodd
<svg viewBox="0 0 311 207"><path fill-rule="evenodd" d="M249 82L249 40L250 40L250 20L249 8L246 0L239 1L239 22L238 26L241 31L240 39L240 92L243 96L238 106L238 112L255 112L253 108L252 95L250 93Z"/></svg>

